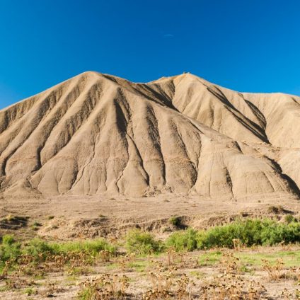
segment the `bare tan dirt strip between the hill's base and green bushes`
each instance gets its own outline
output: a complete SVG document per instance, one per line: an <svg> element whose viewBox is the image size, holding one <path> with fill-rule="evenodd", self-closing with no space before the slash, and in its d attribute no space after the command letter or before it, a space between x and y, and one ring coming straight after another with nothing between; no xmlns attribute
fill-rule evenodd
<svg viewBox="0 0 300 300"><path fill-rule="evenodd" d="M282 206L284 212L270 213L270 206ZM2 198L0 218L7 216L28 217L26 226L18 231L25 237L38 234L49 238L69 239L79 235L87 238L96 236L120 237L134 227L154 231L156 235L169 233L168 219L182 218L182 223L195 229L224 224L236 217L275 217L284 214L299 214L299 200L286 195L270 195L261 199L252 197L241 200L208 199L192 195L158 195L156 197L104 198L49 197L49 198ZM38 221L42 226L31 232L30 224ZM19 229L18 227L18 229ZM0 227L0 233L13 233L8 226Z"/></svg>

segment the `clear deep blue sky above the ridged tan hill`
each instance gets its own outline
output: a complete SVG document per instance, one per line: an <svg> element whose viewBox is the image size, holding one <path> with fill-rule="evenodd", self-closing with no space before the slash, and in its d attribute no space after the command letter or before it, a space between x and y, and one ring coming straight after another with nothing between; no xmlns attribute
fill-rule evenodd
<svg viewBox="0 0 300 300"><path fill-rule="evenodd" d="M88 70L300 95L300 1L0 0L0 108Z"/></svg>

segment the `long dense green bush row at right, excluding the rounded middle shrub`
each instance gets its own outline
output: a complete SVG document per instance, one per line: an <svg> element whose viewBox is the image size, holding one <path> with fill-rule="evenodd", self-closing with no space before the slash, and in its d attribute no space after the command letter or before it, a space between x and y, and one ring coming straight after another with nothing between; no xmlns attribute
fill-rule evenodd
<svg viewBox="0 0 300 300"><path fill-rule="evenodd" d="M300 241L300 223L291 221L285 224L271 219L238 220L205 231L188 229L175 232L167 239L166 246L178 251L214 247L233 248L233 239L237 238L246 246L297 243Z"/></svg>

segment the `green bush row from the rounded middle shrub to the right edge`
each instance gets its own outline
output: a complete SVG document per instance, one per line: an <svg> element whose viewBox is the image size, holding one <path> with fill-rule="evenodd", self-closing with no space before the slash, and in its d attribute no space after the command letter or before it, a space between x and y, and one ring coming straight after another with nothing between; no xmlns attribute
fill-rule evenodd
<svg viewBox="0 0 300 300"><path fill-rule="evenodd" d="M243 219L202 231L176 231L164 243L156 241L150 233L134 230L128 233L126 246L129 252L139 254L157 253L171 247L176 251L192 251L233 248L234 239L239 239L246 246L297 243L300 242L300 223L293 220L278 223L271 219Z"/></svg>

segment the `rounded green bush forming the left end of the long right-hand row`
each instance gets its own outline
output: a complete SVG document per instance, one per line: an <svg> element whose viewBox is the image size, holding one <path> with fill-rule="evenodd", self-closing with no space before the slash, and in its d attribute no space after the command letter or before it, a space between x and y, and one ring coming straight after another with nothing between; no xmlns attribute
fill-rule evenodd
<svg viewBox="0 0 300 300"><path fill-rule="evenodd" d="M187 229L175 232L166 240L166 246L173 247L176 251L195 250L197 248L197 231Z"/></svg>

